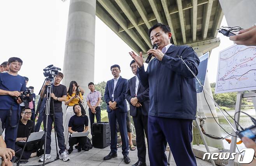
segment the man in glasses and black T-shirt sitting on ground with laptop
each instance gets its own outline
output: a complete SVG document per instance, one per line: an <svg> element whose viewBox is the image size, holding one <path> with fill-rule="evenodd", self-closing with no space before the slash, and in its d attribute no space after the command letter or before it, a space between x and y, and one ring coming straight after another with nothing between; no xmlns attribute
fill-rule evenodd
<svg viewBox="0 0 256 166"><path fill-rule="evenodd" d="M26 141L30 133L34 132L35 124L33 123L33 121L30 120L31 115L32 115L32 111L30 108L24 108L21 111L21 119L19 120L19 123L18 123L18 134L16 138L16 145L15 145L16 151L24 147L25 143L23 141ZM39 149L39 147L34 146L34 143L33 145L31 145L30 142L27 142L26 148L32 147L32 146L33 148L32 149L30 148L31 150L27 150L27 149L24 150L23 155L21 157L22 159L28 160L30 157L37 156L37 150ZM16 152L16 156L19 158L21 156L21 153L22 153L22 150L19 150L18 152Z"/></svg>

